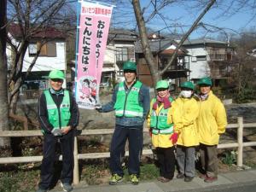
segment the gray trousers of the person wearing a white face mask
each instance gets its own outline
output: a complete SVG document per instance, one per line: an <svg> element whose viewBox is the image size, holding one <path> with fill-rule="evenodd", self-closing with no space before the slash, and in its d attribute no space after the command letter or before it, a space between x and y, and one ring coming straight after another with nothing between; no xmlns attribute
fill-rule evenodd
<svg viewBox="0 0 256 192"><path fill-rule="evenodd" d="M195 177L195 147L177 145L177 165L179 172L187 177Z"/></svg>

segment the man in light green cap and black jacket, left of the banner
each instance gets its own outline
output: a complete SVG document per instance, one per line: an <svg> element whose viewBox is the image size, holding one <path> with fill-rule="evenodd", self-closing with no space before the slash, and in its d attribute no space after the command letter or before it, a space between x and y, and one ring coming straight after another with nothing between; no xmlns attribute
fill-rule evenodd
<svg viewBox="0 0 256 192"><path fill-rule="evenodd" d="M61 143L61 187L72 191L73 144L75 128L79 125L79 109L68 90L62 89L65 75L60 70L49 73L49 90L44 90L38 100L38 121L44 134L41 181L37 192L46 192L54 176L55 149Z"/></svg>

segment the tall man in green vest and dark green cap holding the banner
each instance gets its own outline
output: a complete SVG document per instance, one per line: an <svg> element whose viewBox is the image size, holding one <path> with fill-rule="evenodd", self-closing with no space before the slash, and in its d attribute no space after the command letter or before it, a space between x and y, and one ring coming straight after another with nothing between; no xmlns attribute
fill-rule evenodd
<svg viewBox="0 0 256 192"><path fill-rule="evenodd" d="M136 63L125 61L125 81L114 88L112 101L102 107L96 107L99 112L115 110L115 130L110 147L110 170L112 177L109 184L122 181L124 172L121 157L125 151L125 143L129 141L128 172L132 184L138 184L140 174L140 154L143 148L143 123L148 115L150 98L149 90L137 80Z"/></svg>

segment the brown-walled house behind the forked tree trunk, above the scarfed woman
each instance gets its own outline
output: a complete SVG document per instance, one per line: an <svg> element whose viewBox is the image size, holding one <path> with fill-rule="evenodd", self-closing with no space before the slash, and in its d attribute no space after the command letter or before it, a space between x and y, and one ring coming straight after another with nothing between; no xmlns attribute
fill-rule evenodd
<svg viewBox="0 0 256 192"><path fill-rule="evenodd" d="M171 60L172 54L177 48L177 43L172 39L152 38L149 41L149 45L154 56L155 65L157 65L159 70L164 69ZM138 65L137 76L144 84L152 87L153 79L149 71L148 64L145 61L145 56L140 42L137 42L136 44L135 53ZM189 57L188 51L183 48L179 49L177 51L176 60L162 76L162 79L168 79L176 90L179 84L189 79L189 62L185 60L185 57Z"/></svg>

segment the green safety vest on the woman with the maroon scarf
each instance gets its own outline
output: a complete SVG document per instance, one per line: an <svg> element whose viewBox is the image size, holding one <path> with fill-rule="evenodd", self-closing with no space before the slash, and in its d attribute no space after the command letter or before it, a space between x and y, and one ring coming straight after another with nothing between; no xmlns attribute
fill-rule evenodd
<svg viewBox="0 0 256 192"><path fill-rule="evenodd" d="M172 102L172 98L169 98ZM154 98L153 103L156 101ZM161 108L159 114L157 115L155 110L152 108L150 114L150 127L152 128L152 133L157 134L172 134L173 133L173 124L167 123L168 111L170 108Z"/></svg>

